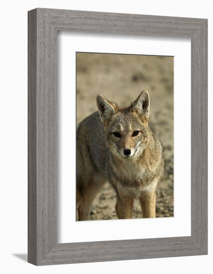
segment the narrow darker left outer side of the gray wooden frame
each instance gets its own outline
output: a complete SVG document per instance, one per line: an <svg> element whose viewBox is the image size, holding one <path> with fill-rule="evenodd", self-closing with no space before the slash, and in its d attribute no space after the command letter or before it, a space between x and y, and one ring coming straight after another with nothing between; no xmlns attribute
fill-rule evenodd
<svg viewBox="0 0 213 274"><path fill-rule="evenodd" d="M37 262L37 11L28 16L28 262Z"/></svg>

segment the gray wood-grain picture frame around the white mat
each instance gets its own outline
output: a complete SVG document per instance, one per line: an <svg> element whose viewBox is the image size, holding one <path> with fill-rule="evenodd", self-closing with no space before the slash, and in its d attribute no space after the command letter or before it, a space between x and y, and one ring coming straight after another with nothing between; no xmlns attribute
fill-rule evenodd
<svg viewBox="0 0 213 274"><path fill-rule="evenodd" d="M41 266L208 253L207 24L207 19L200 18L45 8L28 12L29 263ZM191 236L57 243L57 31L191 38Z"/></svg>

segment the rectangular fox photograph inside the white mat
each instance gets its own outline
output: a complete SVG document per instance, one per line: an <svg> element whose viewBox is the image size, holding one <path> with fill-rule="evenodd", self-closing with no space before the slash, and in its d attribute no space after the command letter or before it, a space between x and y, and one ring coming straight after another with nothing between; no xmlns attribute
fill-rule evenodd
<svg viewBox="0 0 213 274"><path fill-rule="evenodd" d="M76 52L76 221L174 217L174 57Z"/></svg>

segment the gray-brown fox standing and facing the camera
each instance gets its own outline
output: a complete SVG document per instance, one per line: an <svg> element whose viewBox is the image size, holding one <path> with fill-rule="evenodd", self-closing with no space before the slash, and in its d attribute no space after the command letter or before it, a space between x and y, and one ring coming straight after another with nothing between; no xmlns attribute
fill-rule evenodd
<svg viewBox="0 0 213 274"><path fill-rule="evenodd" d="M156 188L164 172L163 146L150 128L150 98L142 91L120 108L103 95L98 111L77 128L77 212L90 220L93 201L106 182L116 193L118 219L131 219L139 199L143 218L156 217Z"/></svg>

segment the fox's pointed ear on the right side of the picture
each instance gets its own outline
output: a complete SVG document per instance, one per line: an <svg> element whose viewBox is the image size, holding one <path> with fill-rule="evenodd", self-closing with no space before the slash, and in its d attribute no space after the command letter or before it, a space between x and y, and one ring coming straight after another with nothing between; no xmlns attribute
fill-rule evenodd
<svg viewBox="0 0 213 274"><path fill-rule="evenodd" d="M143 115L147 119L149 118L149 94L147 90L141 92L138 98L132 104L133 111L140 115Z"/></svg>

